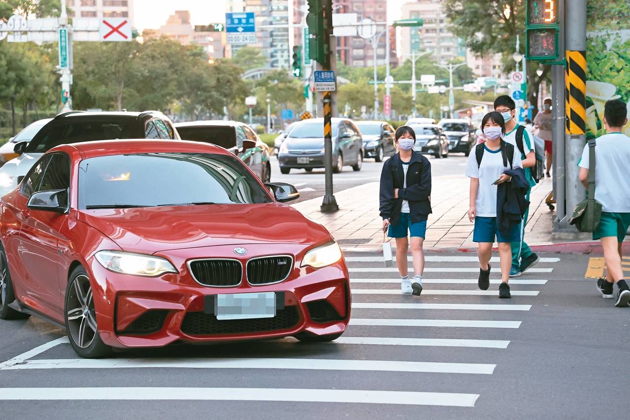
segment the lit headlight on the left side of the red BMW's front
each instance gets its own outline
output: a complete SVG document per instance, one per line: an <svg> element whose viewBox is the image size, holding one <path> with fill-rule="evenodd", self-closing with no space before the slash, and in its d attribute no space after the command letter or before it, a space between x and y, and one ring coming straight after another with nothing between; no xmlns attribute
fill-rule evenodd
<svg viewBox="0 0 630 420"><path fill-rule="evenodd" d="M99 251L96 260L106 269L133 276L156 277L165 272L177 272L168 260L151 255L130 254L129 252Z"/></svg>

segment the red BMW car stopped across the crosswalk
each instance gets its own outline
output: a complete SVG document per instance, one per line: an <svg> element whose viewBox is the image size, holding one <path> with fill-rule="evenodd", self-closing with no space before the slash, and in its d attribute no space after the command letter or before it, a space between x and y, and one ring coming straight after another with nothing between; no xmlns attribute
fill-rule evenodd
<svg viewBox="0 0 630 420"><path fill-rule="evenodd" d="M64 144L0 202L0 318L112 347L294 336L350 320L348 268L323 226L236 156L188 141Z"/></svg>

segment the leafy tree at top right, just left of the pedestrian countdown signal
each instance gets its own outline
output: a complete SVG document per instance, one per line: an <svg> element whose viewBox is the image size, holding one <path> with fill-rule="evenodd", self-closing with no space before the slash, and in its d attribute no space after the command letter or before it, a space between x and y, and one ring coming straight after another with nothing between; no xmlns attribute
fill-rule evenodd
<svg viewBox="0 0 630 420"><path fill-rule="evenodd" d="M445 15L452 23L452 32L466 42L466 46L478 57L501 53L504 69L515 68L512 54L516 48L516 36L525 33L525 1L522 0L442 0ZM525 47L525 37L520 52ZM551 66L543 66L538 76L536 62L527 62L527 99L537 112L536 95L542 80L546 79Z"/></svg>

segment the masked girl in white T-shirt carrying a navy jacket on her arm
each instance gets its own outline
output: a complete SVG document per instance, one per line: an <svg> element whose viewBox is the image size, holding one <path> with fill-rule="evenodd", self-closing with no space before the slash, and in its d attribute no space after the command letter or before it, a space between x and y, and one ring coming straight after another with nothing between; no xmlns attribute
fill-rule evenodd
<svg viewBox="0 0 630 420"><path fill-rule="evenodd" d="M498 185L512 181L508 175L513 168L522 168L520 153L503 140L505 121L498 112L489 112L481 120L486 141L474 148L468 156L466 176L471 178L470 209L468 219L474 222L473 242L478 243L479 279L478 286L487 290L490 286L490 257L492 245L498 242L501 265L499 297L510 298L510 267L512 250L510 243L518 241L519 225L512 225L507 235L499 229L497 212ZM511 156L510 156L511 155ZM524 179L525 181L525 179Z"/></svg>

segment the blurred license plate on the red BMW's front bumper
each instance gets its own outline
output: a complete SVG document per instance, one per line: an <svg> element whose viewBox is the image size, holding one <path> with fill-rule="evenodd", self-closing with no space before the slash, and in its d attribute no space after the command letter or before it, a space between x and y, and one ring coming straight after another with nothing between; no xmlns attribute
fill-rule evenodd
<svg viewBox="0 0 630 420"><path fill-rule="evenodd" d="M217 320L273 318L276 315L276 295L273 292L217 295L214 315Z"/></svg>

